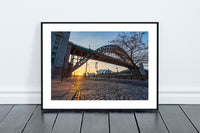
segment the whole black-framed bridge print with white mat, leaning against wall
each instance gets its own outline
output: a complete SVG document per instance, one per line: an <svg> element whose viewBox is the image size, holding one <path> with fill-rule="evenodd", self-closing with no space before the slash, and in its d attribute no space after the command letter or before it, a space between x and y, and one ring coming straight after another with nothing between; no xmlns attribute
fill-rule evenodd
<svg viewBox="0 0 200 133"><path fill-rule="evenodd" d="M158 22L42 22L42 109L158 108Z"/></svg>

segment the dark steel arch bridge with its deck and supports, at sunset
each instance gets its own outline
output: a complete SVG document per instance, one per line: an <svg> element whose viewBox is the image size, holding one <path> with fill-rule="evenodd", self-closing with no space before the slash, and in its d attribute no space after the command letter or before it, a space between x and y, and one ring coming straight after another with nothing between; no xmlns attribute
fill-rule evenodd
<svg viewBox="0 0 200 133"><path fill-rule="evenodd" d="M71 55L68 67L63 71L63 75L69 76L73 71L81 67L89 59L111 63L123 67L127 67L131 73L136 74L140 79L143 79L137 65L133 59L117 45L105 45L96 50L88 49L72 42L68 43L67 55ZM77 58L75 58L77 56Z"/></svg>

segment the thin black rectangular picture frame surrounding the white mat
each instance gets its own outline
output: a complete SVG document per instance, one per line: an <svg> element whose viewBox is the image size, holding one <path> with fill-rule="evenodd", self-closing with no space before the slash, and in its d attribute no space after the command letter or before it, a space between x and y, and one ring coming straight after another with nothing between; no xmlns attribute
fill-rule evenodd
<svg viewBox="0 0 200 133"><path fill-rule="evenodd" d="M52 108L46 108L44 107L44 75L43 75L43 69L44 69L44 57L43 57L43 53L44 53L44 49L43 49L43 36L44 36L44 30L43 30L43 27L44 25L46 24L155 24L156 25L156 31L157 31L157 34L156 34L156 45L157 45L157 49L156 49L156 63L157 63L157 71L156 71L156 108L140 108L140 109L134 109L134 108L101 108L101 109L92 109L92 108L56 108L56 109L52 109ZM41 22L41 109L43 111L70 111L70 110L134 110L134 111L155 111L155 110L158 110L158 100L159 100L159 22Z"/></svg>

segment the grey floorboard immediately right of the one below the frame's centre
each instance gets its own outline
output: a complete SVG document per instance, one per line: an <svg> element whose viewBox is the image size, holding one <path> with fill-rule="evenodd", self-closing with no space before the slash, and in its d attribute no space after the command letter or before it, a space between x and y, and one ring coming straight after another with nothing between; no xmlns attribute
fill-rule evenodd
<svg viewBox="0 0 200 133"><path fill-rule="evenodd" d="M110 133L138 133L133 112L110 112Z"/></svg>

